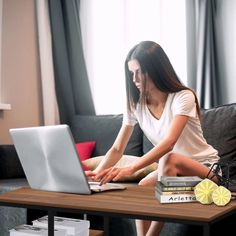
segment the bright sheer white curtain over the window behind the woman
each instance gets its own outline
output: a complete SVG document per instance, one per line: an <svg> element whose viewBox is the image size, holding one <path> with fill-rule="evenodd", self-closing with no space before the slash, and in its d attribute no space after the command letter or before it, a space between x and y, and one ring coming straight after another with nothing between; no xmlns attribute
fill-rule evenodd
<svg viewBox="0 0 236 236"><path fill-rule="evenodd" d="M96 114L123 112L124 61L140 41L159 43L186 83L185 0L80 0L80 20Z"/></svg>

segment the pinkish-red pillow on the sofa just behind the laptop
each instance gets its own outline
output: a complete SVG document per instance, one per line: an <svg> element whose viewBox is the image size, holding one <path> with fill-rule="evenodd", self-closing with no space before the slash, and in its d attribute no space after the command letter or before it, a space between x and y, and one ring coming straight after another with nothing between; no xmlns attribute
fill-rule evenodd
<svg viewBox="0 0 236 236"><path fill-rule="evenodd" d="M76 149L79 154L79 158L82 161L89 159L92 156L93 150L96 146L95 141L76 143ZM87 166L83 165L84 170L89 170Z"/></svg>

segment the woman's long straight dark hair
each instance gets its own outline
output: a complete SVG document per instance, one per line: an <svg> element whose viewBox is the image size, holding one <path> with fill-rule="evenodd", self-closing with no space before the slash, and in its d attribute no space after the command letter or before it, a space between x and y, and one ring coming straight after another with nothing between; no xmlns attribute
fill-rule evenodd
<svg viewBox="0 0 236 236"><path fill-rule="evenodd" d="M195 96L197 113L200 117L200 108L195 92L184 86L179 80L170 60L162 47L152 41L143 41L135 45L128 53L125 60L127 105L131 111L136 108L138 101L146 101L145 91L139 91L132 81L132 73L129 71L128 62L137 60L142 74L147 73L155 86L165 93L176 93L181 90L190 90ZM145 90L145 80L142 89Z"/></svg>

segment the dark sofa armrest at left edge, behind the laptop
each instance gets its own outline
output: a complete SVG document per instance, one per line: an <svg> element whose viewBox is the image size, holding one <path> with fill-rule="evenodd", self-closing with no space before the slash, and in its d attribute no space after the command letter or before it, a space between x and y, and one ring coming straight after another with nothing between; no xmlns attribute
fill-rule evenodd
<svg viewBox="0 0 236 236"><path fill-rule="evenodd" d="M14 145L0 145L0 179L25 177Z"/></svg>

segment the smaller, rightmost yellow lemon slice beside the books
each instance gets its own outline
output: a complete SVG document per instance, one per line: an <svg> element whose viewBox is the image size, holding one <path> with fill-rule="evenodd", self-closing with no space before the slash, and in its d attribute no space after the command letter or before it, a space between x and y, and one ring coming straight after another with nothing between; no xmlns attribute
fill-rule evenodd
<svg viewBox="0 0 236 236"><path fill-rule="evenodd" d="M231 192L223 186L219 186L212 193L212 200L217 206L225 206L230 199Z"/></svg>

